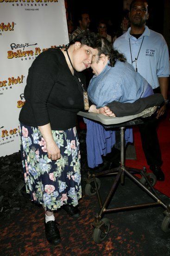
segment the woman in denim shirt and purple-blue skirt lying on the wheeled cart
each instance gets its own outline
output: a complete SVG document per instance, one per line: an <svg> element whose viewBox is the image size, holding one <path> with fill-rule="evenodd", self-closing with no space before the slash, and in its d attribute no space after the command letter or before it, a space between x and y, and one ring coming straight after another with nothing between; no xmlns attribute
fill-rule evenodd
<svg viewBox="0 0 170 256"><path fill-rule="evenodd" d="M97 112L97 108L108 105L116 114L112 104L108 103L119 101L120 107L124 105L121 103L126 103L125 115L135 115L137 112L134 113L133 104L130 103L153 94L151 85L126 62L123 54L113 49L112 44L104 37L98 40L98 54L93 57L91 68L94 76L88 86L88 97L95 105L90 107L90 112ZM119 108L118 105L116 107ZM94 168L103 162L101 155L110 153L113 146L119 150L120 143L115 131L105 130L101 124L94 121L86 120L86 123L88 166ZM126 143L133 141L132 128L126 129L125 139ZM113 152L116 150L114 149Z"/></svg>

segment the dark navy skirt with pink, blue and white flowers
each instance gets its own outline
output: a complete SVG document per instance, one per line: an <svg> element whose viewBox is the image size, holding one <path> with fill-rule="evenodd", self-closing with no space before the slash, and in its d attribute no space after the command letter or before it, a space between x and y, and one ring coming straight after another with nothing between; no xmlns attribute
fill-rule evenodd
<svg viewBox="0 0 170 256"><path fill-rule="evenodd" d="M20 124L26 192L32 201L42 204L46 210L56 210L63 204L76 206L82 197L76 127L52 130L52 135L61 153L57 161L48 158L46 143L39 129Z"/></svg>

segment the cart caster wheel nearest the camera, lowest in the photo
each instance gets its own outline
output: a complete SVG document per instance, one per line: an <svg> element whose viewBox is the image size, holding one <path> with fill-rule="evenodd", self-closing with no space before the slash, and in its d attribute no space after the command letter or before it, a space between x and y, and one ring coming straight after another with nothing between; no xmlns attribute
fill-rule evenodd
<svg viewBox="0 0 170 256"><path fill-rule="evenodd" d="M95 243L101 243L107 237L110 230L110 221L107 218L101 219L101 221L105 224L107 233L103 233L101 229L95 228L93 232L93 240Z"/></svg>

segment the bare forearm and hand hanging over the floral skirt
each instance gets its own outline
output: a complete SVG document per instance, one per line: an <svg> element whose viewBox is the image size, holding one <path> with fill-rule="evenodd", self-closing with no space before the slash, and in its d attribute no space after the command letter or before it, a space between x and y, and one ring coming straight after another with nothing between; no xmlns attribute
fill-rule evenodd
<svg viewBox="0 0 170 256"><path fill-rule="evenodd" d="M57 160L61 157L60 149L58 148L56 142L53 139L50 123L43 126L38 126L45 142L48 153L48 158L51 160Z"/></svg>

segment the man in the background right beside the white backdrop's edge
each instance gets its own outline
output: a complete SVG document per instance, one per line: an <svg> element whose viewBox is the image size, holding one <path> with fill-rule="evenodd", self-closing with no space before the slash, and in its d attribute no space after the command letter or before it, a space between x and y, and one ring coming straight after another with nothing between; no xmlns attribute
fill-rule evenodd
<svg viewBox="0 0 170 256"><path fill-rule="evenodd" d="M88 31L89 25L90 25L90 18L89 14L86 12L80 13L78 17L78 23L79 26L77 29L71 34L70 41L73 40L78 34L80 34L82 31Z"/></svg>

